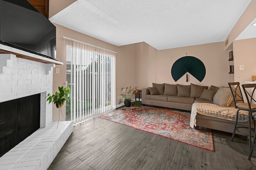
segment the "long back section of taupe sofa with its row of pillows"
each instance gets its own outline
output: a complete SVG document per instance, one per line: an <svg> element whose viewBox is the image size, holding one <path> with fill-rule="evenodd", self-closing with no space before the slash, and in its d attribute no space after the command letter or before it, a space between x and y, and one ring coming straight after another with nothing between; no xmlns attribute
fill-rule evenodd
<svg viewBox="0 0 256 170"><path fill-rule="evenodd" d="M192 104L195 102L213 103L212 97L216 93L216 88L211 86L207 90L208 86L199 86L192 83L190 85L153 83L153 87L142 89L142 104L191 111ZM204 94L208 92L213 95L212 97L204 97L203 92Z"/></svg>

